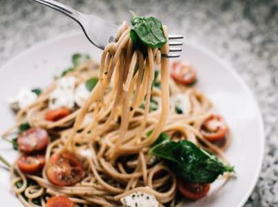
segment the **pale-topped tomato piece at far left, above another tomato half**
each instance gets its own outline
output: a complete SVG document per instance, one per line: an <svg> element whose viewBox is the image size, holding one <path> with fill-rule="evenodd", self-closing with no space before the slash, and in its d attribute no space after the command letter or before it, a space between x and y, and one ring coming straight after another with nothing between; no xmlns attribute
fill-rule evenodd
<svg viewBox="0 0 278 207"><path fill-rule="evenodd" d="M45 150L48 143L50 143L50 138L46 130L41 128L28 129L17 138L19 150L26 153Z"/></svg>

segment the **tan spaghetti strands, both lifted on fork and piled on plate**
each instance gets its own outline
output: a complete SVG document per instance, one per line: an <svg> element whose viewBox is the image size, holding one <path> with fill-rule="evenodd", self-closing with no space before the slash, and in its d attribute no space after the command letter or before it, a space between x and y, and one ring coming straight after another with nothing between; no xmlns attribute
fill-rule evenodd
<svg viewBox="0 0 278 207"><path fill-rule="evenodd" d="M163 30L166 35L166 27ZM66 74L75 77L75 85L99 78L82 107L57 121L45 120L55 81L37 101L17 113L17 125L4 134L24 122L44 128L53 137L46 149L46 163L53 154L71 152L84 169L75 185L57 186L49 181L46 168L41 174L24 174L15 163L10 168L11 189L24 206L45 206L51 195L66 195L78 206L120 206L120 199L133 192L154 195L160 206L177 206L176 175L148 153L163 132L173 141L191 141L226 161L223 150L230 136L225 136L225 145L219 147L201 133L203 123L212 116L210 100L169 78L169 60L160 55L169 52L167 44L160 49L148 47L144 57L133 47L129 33L124 22L118 42L104 48L99 70L98 64L87 60ZM157 66L160 87L153 85ZM186 113L178 114L170 101L176 94L183 94ZM157 109L151 111L154 102Z"/></svg>

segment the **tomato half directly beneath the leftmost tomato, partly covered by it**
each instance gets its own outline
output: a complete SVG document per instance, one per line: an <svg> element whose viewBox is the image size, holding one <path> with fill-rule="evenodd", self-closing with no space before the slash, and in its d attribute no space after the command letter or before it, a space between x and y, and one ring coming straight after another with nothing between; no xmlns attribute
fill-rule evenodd
<svg viewBox="0 0 278 207"><path fill-rule="evenodd" d="M22 172L36 173L44 168L46 159L44 154L22 155L17 159L17 166Z"/></svg>

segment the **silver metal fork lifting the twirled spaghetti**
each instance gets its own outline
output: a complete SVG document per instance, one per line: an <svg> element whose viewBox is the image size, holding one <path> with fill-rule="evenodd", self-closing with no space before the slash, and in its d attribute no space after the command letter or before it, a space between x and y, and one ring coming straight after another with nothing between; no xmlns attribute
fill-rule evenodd
<svg viewBox="0 0 278 207"><path fill-rule="evenodd" d="M104 50L105 46L111 42L116 42L115 35L117 34L118 26L111 24L110 22L95 16L85 15L82 12L74 10L62 3L53 0L30 0L37 3L41 3L45 6L58 10L64 15L71 17L82 27L82 30L89 41ZM183 39L183 35L169 35L169 39ZM169 46L181 46L183 42L169 41ZM170 47L169 52L180 52L181 48ZM161 57L180 57L179 54L161 54Z"/></svg>

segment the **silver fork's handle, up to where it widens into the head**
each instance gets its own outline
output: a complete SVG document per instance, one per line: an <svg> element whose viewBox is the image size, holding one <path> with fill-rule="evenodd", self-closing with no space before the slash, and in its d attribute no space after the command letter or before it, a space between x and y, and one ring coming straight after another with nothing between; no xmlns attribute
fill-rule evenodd
<svg viewBox="0 0 278 207"><path fill-rule="evenodd" d="M59 12L64 13L68 17L71 17L72 19L80 23L80 17L82 16L82 13L64 5L63 3L59 3L54 0L30 0L30 1L35 1L37 3L41 3L45 6L58 10Z"/></svg>

